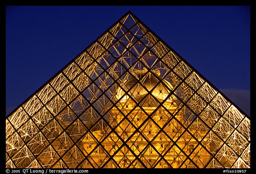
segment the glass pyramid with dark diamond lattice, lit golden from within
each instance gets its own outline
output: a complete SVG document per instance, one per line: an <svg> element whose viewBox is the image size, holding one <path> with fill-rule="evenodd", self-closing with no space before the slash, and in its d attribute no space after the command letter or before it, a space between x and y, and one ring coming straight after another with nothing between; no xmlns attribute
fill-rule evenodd
<svg viewBox="0 0 256 174"><path fill-rule="evenodd" d="M7 168L250 168L250 118L127 12L6 118Z"/></svg>

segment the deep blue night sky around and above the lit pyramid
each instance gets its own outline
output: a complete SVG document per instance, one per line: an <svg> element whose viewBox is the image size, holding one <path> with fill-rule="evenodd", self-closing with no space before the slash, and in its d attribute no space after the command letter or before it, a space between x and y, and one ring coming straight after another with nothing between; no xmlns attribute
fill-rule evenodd
<svg viewBox="0 0 256 174"><path fill-rule="evenodd" d="M129 10L250 116L249 6L7 6L6 115Z"/></svg>

